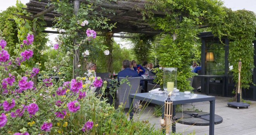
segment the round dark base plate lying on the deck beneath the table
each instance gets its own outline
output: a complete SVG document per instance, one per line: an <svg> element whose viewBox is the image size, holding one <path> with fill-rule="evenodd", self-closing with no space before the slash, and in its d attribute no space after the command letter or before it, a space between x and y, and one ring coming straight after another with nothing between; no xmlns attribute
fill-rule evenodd
<svg viewBox="0 0 256 135"><path fill-rule="evenodd" d="M198 114L198 116L193 116L194 113ZM209 126L210 114L207 112L183 111L183 119L182 113L178 112L175 120L186 125ZM220 124L222 121L221 116L214 115L214 124Z"/></svg>

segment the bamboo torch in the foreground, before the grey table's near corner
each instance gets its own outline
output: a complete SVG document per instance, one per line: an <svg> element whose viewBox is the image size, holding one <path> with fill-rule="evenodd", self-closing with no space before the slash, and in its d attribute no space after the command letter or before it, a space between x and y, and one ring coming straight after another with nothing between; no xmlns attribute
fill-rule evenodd
<svg viewBox="0 0 256 135"><path fill-rule="evenodd" d="M161 126L165 126L166 134L169 134L171 127L171 119L173 116L173 101L171 101L171 92L168 94L168 98L164 102L164 119L161 120Z"/></svg>

